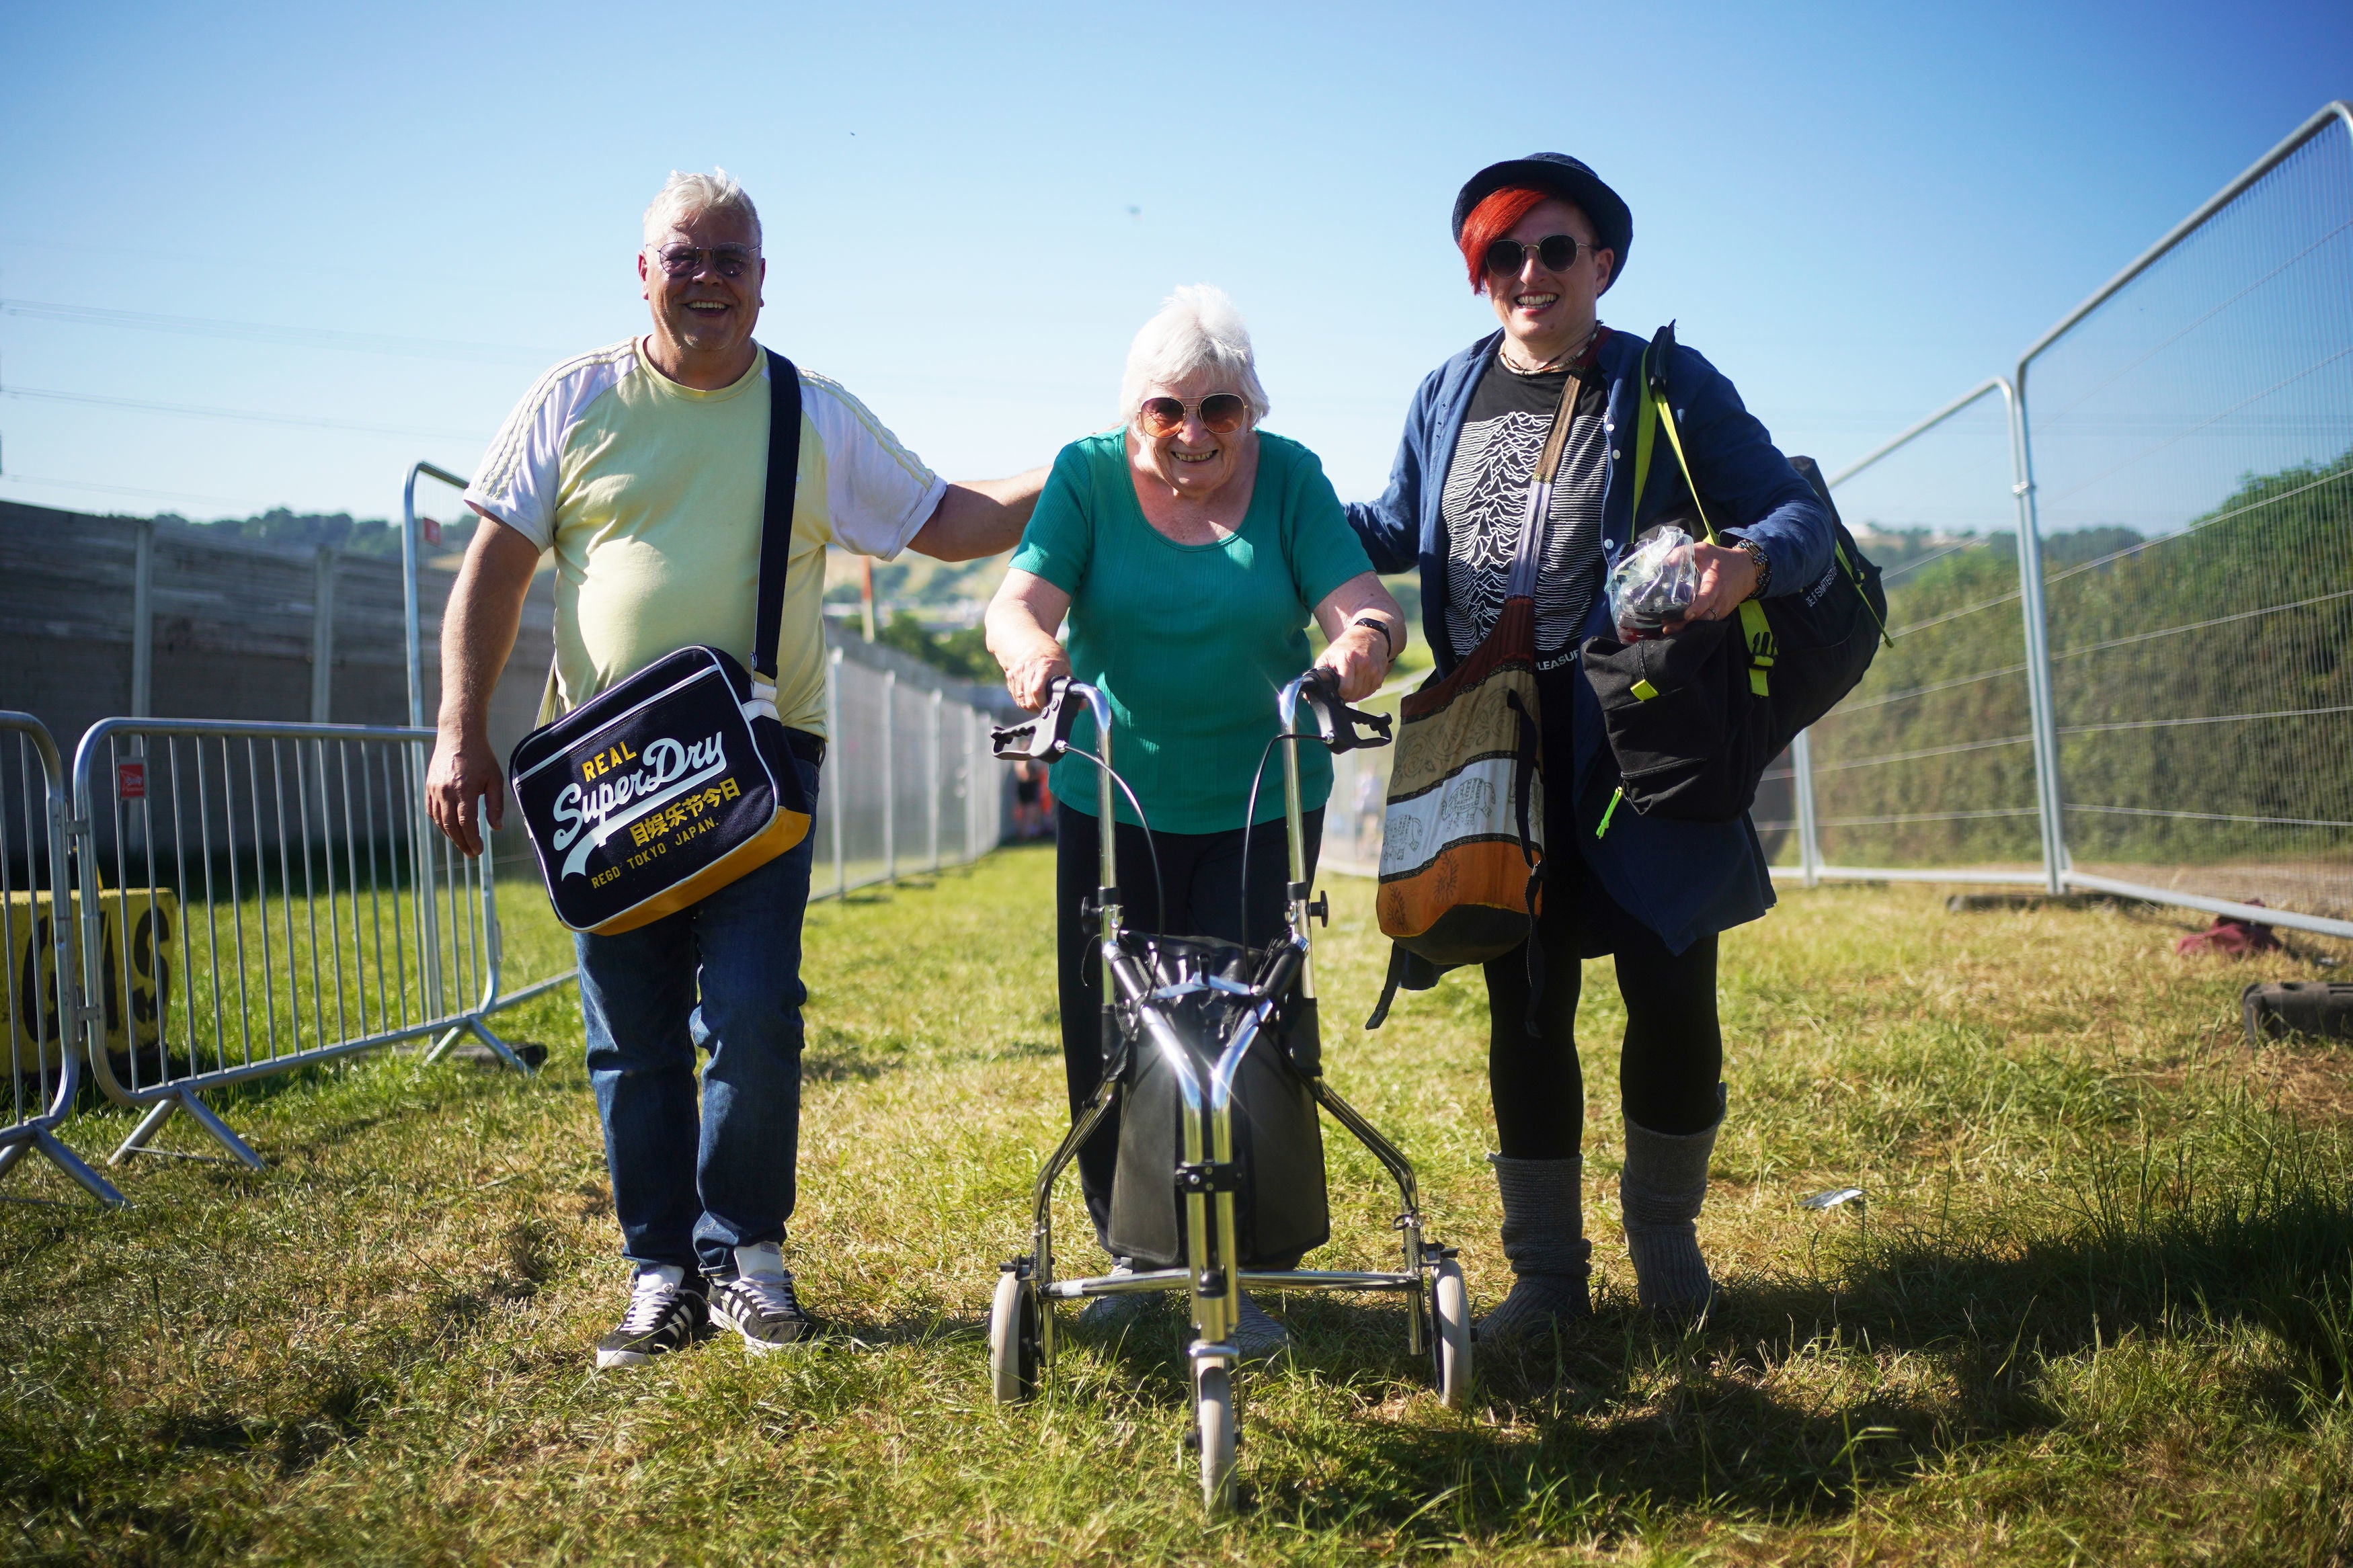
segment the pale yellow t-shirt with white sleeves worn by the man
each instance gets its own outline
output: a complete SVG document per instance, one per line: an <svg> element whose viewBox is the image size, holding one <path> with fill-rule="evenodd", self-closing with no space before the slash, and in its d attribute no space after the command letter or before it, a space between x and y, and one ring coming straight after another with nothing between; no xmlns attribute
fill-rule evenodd
<svg viewBox="0 0 2353 1568"><path fill-rule="evenodd" d="M767 353L699 393L635 339L539 378L466 489L555 550L555 696L569 710L694 644L751 665L767 496ZM776 637L776 717L826 733L826 545L892 559L946 494L824 376L800 371L800 487Z"/></svg>

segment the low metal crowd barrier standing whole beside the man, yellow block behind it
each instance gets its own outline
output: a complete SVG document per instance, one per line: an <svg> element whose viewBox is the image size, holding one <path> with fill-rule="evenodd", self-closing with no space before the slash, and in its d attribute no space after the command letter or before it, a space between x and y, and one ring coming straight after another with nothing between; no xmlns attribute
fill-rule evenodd
<svg viewBox="0 0 2353 1568"><path fill-rule="evenodd" d="M68 827L89 1065L111 1100L146 1107L111 1164L155 1152L186 1112L261 1168L207 1091L402 1039L435 1037L431 1060L473 1034L529 1072L482 1020L572 976L501 992L494 860L426 818L431 745L205 719L82 736Z"/></svg>

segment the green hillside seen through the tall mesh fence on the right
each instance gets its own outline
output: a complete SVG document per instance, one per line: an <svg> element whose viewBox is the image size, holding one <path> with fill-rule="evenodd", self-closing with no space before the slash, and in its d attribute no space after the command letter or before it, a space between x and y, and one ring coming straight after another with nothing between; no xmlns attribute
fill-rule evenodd
<svg viewBox="0 0 2353 1568"><path fill-rule="evenodd" d="M2249 477L2179 534L2057 534L2045 583L2078 860L2353 851L2329 825L2353 820L2353 454ZM2035 860L2014 543L1929 557L1887 599L1894 646L1814 726L1824 856Z"/></svg>

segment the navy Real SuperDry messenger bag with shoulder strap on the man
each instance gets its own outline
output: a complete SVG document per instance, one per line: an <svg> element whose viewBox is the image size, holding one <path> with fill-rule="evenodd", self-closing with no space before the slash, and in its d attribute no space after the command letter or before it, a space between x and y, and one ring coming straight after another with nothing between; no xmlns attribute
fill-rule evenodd
<svg viewBox="0 0 2353 1568"><path fill-rule="evenodd" d="M751 672L722 649L666 654L527 733L508 762L555 917L574 931L635 931L767 865L809 832L793 736L776 722L800 371L769 353L767 381Z"/></svg>

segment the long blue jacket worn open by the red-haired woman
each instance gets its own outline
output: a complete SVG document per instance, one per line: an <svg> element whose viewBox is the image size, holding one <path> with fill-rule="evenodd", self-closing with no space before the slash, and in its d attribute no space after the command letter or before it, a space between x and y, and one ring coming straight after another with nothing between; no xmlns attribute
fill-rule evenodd
<svg viewBox="0 0 2353 1568"><path fill-rule="evenodd" d="M1405 440L1379 501L1348 505L1348 524L1365 541L1377 571L1421 567L1421 628L1445 677L1468 649L1447 644L1447 524L1440 515L1454 442L1471 407L1471 393L1501 331L1461 350L1424 378L1405 414ZM1609 381L1605 411L1607 480L1602 484L1602 574L1626 552L1631 538L1657 517L1687 508L1689 489L1675 463L1675 451L1659 430L1652 440L1649 480L1642 515L1633 517L1635 414L1640 409L1640 364L1645 341L1605 334L1598 362ZM1831 567L1831 520L1814 491L1772 444L1732 383L1689 348L1680 348L1666 367L1668 404L1682 433L1692 470L1706 494L1708 520L1718 529L1753 538L1772 564L1772 592L1795 592ZM1607 637L1609 602L1593 595L1584 637ZM1671 823L1619 809L1609 830L1595 837L1602 811L1617 788L1617 759L1602 733L1600 703L1586 679L1574 679L1574 708L1567 715L1574 738L1574 778L1546 778L1553 792L1569 790L1577 818L1577 851L1617 903L1659 933L1671 952L1682 952L1701 936L1758 919L1772 907L1772 877L1755 827L1744 816L1737 823ZM1546 712L1546 724L1562 715ZM1548 844L1562 853L1565 844ZM1555 886L1562 882L1555 879Z"/></svg>

